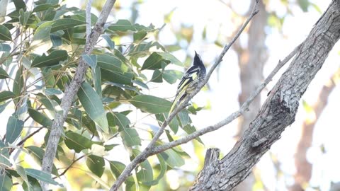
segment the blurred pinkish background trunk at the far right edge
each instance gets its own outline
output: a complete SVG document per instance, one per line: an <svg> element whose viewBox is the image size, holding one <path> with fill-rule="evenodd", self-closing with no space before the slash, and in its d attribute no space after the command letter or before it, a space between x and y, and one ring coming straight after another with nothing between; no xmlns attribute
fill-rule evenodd
<svg viewBox="0 0 340 191"><path fill-rule="evenodd" d="M307 161L307 150L312 146L315 124L328 103L328 98L336 86L335 79L340 74L340 69L334 73L329 81L322 87L317 102L312 105L314 120L307 119L302 124L302 133L295 152L295 183L290 191L303 191L303 185L307 184L312 177L312 164Z"/></svg>

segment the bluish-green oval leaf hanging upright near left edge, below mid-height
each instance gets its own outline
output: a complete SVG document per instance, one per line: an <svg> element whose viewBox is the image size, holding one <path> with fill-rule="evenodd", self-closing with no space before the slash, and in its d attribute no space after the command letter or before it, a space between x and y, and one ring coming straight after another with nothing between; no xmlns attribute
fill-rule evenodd
<svg viewBox="0 0 340 191"><path fill-rule="evenodd" d="M6 128L6 142L12 144L18 139L22 130L23 121L19 120L18 117L9 117Z"/></svg>

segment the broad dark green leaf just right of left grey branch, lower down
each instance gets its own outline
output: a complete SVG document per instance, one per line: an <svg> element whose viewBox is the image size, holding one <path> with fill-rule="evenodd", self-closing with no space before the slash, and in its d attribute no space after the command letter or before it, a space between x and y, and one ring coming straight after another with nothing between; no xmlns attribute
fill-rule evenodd
<svg viewBox="0 0 340 191"><path fill-rule="evenodd" d="M91 149L94 144L90 139L77 134L75 132L67 132L65 137L65 144L69 149L74 149L77 153L84 149Z"/></svg>

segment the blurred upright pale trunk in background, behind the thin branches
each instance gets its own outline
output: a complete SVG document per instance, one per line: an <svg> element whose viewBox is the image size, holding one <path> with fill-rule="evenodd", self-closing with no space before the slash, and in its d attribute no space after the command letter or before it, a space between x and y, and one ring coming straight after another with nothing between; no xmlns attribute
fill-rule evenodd
<svg viewBox="0 0 340 191"><path fill-rule="evenodd" d="M266 33L265 27L268 19L263 1L259 1L259 13L251 21L248 31L248 46L247 49L237 51L239 57L241 93L239 94L239 105L242 105L246 98L251 96L257 86L263 80L263 64L267 59L266 52ZM251 120L254 120L257 112L261 107L261 94L256 96L255 100L249 105L249 112L245 112L242 117L239 117L239 127L236 138L244 134L246 128L249 127ZM251 173L242 183L234 188L234 191L252 190L255 178Z"/></svg>

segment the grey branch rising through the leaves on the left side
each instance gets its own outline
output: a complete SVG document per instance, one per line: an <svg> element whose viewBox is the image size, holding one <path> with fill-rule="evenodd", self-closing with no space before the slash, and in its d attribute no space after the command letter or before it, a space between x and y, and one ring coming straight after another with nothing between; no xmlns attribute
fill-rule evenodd
<svg viewBox="0 0 340 191"><path fill-rule="evenodd" d="M84 48L85 54L91 54L92 50L94 49L94 45L96 45L96 41L103 31L103 25L106 23L106 19L108 18L108 15L113 8L113 4L115 4L115 0L108 0L103 6L103 10L99 15L98 21L96 25L94 25L94 28L89 35L89 39L86 40L86 45ZM88 67L89 66L84 62L83 59L79 59L79 65L77 67L76 73L74 74L74 78L72 79L71 83L69 83L69 86L67 86L67 88L65 89L64 97L62 98L62 103L60 104L63 113L62 115L60 113L57 113L55 120L53 120L50 137L47 141L45 155L44 158L42 158L42 170L47 173L50 173L52 170L55 152L57 151L57 145L60 140L60 135L63 131L62 127L67 117L67 113L69 112L69 108L72 105L74 96L78 92L79 87L84 80L84 75ZM47 183L41 182L41 185L44 190L47 190Z"/></svg>

